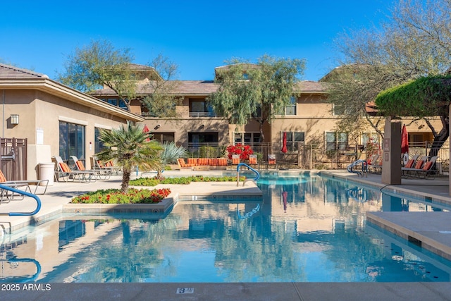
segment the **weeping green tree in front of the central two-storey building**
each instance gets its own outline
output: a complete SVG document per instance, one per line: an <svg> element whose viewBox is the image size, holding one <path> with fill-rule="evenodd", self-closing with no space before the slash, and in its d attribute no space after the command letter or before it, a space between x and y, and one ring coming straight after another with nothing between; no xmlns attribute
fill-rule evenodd
<svg viewBox="0 0 451 301"><path fill-rule="evenodd" d="M261 142L264 142L264 123L271 123L276 114L284 114L304 66L303 59L266 55L256 64L233 59L227 68L218 71L219 87L209 96L209 102L214 111L227 116L230 123L245 125L255 118L259 121Z"/></svg>

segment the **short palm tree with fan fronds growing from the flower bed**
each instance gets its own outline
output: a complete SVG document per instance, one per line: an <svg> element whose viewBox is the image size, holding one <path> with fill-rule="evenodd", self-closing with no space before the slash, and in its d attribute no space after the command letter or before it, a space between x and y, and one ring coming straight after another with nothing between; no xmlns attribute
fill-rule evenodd
<svg viewBox="0 0 451 301"><path fill-rule="evenodd" d="M157 169L161 161L161 147L156 140L150 140L149 132L142 125L121 125L118 129L100 130L99 140L103 142L103 151L96 154L100 160L113 160L122 168L121 192L128 190L132 168Z"/></svg>

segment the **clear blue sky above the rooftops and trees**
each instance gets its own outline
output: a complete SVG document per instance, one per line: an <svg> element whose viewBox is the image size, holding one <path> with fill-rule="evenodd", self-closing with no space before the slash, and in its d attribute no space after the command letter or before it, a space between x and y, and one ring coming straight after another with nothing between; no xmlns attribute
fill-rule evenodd
<svg viewBox="0 0 451 301"><path fill-rule="evenodd" d="M0 61L56 78L76 47L106 39L130 48L135 63L158 54L179 80L212 80L233 57L306 59L304 80L336 67L333 39L378 24L391 0L2 1Z"/></svg>

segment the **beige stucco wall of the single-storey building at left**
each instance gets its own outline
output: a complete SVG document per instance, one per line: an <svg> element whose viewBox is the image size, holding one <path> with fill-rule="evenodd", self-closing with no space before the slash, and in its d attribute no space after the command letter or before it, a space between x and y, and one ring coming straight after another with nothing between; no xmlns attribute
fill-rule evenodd
<svg viewBox="0 0 451 301"><path fill-rule="evenodd" d="M0 106L0 116L4 117L3 137L27 138L28 145L49 145L48 161L51 161L51 156L59 154L59 121L85 125L87 168L90 168L89 158L94 155L94 128L118 128L126 122L124 118L38 90L5 90L4 95L2 92L4 104ZM12 113L19 114L18 125L11 125L9 118ZM37 136L42 137L42 141L37 141ZM42 163L36 160L36 156L30 156L27 161L27 177L30 179L36 178L37 166Z"/></svg>

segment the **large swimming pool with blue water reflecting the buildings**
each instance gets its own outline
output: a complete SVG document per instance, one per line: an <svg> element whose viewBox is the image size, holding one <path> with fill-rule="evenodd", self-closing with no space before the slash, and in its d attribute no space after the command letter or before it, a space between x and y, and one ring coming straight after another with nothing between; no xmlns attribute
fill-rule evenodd
<svg viewBox="0 0 451 301"><path fill-rule="evenodd" d="M167 216L62 216L0 247L1 282L450 281L451 262L366 224L447 207L321 176L268 174L261 199L178 202Z"/></svg>

